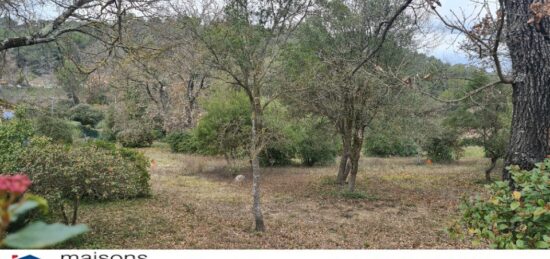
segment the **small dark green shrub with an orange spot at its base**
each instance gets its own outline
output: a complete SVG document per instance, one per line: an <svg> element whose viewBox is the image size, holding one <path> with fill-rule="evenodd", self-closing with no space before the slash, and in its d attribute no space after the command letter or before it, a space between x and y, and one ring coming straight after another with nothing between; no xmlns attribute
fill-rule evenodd
<svg viewBox="0 0 550 259"><path fill-rule="evenodd" d="M431 137L424 149L428 153L428 158L435 163L451 162L459 159L462 155L461 145L453 134Z"/></svg>

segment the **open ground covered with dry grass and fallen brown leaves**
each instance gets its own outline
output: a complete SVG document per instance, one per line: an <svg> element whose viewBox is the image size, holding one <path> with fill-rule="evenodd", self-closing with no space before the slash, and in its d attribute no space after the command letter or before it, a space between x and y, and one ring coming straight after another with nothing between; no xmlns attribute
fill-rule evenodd
<svg viewBox="0 0 550 259"><path fill-rule="evenodd" d="M262 178L267 232L252 231L250 176L223 159L143 150L156 161L153 197L85 205L78 248L467 248L444 229L464 195L482 188L482 158L448 165L364 158L359 193L334 185L336 167L270 168Z"/></svg>

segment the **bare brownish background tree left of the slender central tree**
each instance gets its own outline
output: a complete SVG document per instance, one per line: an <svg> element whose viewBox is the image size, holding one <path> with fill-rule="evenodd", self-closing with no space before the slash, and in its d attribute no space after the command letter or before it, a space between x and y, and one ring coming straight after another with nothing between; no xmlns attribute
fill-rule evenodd
<svg viewBox="0 0 550 259"><path fill-rule="evenodd" d="M209 86L204 48L178 17L134 19L123 28L120 51L106 66L117 71L111 80L141 89L164 131L193 127L198 98Z"/></svg>

